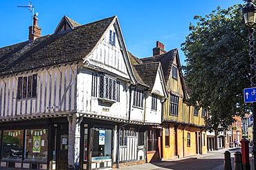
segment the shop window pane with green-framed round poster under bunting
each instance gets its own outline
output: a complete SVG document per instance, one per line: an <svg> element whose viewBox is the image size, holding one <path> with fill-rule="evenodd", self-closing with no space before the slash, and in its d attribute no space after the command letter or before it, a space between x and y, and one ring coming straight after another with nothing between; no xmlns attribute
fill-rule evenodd
<svg viewBox="0 0 256 170"><path fill-rule="evenodd" d="M26 129L25 160L47 160L48 129Z"/></svg>

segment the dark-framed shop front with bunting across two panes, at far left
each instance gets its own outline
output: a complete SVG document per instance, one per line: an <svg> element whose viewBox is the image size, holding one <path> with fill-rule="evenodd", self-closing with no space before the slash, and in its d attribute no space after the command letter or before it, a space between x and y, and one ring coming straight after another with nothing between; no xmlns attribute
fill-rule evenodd
<svg viewBox="0 0 256 170"><path fill-rule="evenodd" d="M1 125L0 130L0 167L48 169L49 129L46 122L35 126L30 122L5 125Z"/></svg>

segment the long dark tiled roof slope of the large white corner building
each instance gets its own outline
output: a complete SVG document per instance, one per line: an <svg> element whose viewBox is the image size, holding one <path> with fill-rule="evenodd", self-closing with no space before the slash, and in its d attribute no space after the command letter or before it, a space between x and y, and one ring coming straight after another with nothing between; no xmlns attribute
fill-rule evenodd
<svg viewBox="0 0 256 170"><path fill-rule="evenodd" d="M82 61L116 16L80 25L71 32L42 36L0 48L0 76L58 63Z"/></svg>

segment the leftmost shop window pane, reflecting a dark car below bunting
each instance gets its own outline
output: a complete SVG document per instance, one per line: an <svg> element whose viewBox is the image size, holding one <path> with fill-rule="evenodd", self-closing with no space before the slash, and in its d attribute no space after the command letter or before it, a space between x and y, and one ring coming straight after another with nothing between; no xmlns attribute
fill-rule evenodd
<svg viewBox="0 0 256 170"><path fill-rule="evenodd" d="M3 131L3 159L21 160L24 154L23 136L24 130Z"/></svg>

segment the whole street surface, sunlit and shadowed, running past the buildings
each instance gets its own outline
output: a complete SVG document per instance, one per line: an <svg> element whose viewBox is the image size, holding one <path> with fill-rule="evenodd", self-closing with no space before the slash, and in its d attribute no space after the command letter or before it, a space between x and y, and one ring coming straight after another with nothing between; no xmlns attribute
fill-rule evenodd
<svg viewBox="0 0 256 170"><path fill-rule="evenodd" d="M189 156L186 158L178 158L174 160L163 160L152 163L136 164L128 167L120 167L122 170L223 170L224 169L224 152L230 151L232 169L235 169L234 153L241 151L241 148L221 149L218 151L209 151L204 155ZM250 169L253 164L250 153Z"/></svg>

